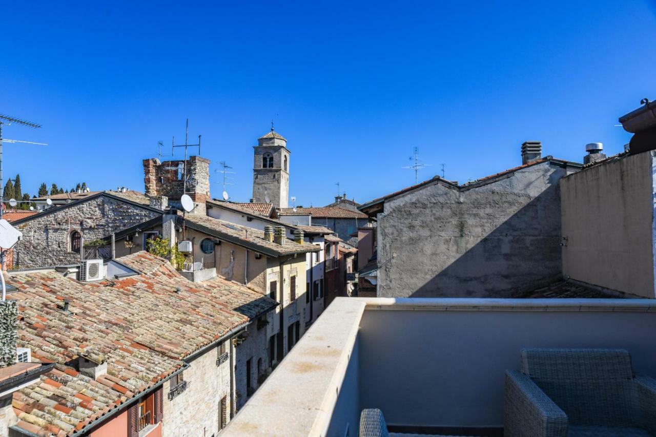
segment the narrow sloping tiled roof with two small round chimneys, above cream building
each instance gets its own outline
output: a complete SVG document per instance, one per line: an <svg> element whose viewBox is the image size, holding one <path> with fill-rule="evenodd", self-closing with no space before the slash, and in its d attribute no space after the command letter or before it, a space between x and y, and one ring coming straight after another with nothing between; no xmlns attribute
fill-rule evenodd
<svg viewBox="0 0 656 437"><path fill-rule="evenodd" d="M251 247L253 250L261 251L266 255L273 254L275 256L280 256L318 251L314 244L298 244L295 243L293 239L289 238L285 239L284 245L279 245L272 241L266 241L266 239L264 239L264 231L262 230L224 222L218 218L206 215L187 215L186 223L187 226L192 229L207 232L218 238L225 238L229 241L234 241L236 244Z"/></svg>

